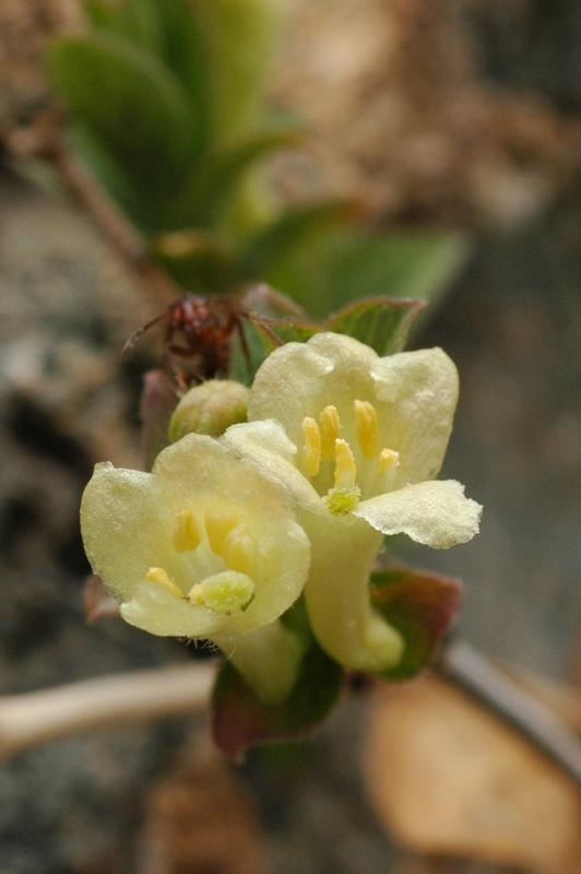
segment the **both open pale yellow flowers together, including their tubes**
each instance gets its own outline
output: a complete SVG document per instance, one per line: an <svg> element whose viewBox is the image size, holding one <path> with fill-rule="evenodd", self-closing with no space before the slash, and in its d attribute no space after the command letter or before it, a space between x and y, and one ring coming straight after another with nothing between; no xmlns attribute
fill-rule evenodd
<svg viewBox="0 0 581 874"><path fill-rule="evenodd" d="M280 617L301 592L329 656L389 670L404 642L369 599L383 536L447 548L478 530L481 507L435 480L456 399L438 349L287 343L257 373L247 422L180 437L151 473L97 465L82 505L93 568L127 622L214 641L264 698L296 678L300 641Z"/></svg>

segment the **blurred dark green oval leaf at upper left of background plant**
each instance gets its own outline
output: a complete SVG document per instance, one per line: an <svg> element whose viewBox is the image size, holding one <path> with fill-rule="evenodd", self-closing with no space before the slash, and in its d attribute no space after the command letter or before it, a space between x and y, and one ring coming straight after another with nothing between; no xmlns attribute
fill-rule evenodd
<svg viewBox="0 0 581 874"><path fill-rule="evenodd" d="M55 86L84 128L135 185L169 193L199 150L193 108L155 56L110 33L51 48Z"/></svg>

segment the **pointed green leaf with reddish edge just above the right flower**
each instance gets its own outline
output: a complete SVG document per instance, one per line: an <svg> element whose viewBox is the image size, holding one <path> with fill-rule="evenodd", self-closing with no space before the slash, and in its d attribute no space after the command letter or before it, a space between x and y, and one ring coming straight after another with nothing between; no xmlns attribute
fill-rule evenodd
<svg viewBox="0 0 581 874"><path fill-rule="evenodd" d="M378 355L391 355L403 349L414 319L425 306L424 300L390 297L358 300L331 316L324 330L353 336Z"/></svg>

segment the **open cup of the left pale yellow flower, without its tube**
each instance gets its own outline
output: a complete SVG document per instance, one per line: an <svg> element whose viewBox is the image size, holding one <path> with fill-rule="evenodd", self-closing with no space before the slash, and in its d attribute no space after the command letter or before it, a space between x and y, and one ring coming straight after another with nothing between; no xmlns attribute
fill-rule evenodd
<svg viewBox="0 0 581 874"><path fill-rule="evenodd" d="M198 434L161 452L151 473L97 464L81 522L121 615L154 635L235 649L277 619L307 577L309 541L287 489Z"/></svg>

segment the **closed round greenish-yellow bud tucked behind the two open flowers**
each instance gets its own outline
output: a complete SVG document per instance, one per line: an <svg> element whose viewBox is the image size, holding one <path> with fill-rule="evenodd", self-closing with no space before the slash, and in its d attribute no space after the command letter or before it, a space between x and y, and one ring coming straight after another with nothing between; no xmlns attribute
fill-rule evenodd
<svg viewBox="0 0 581 874"><path fill-rule="evenodd" d="M246 422L249 390L232 379L212 379L190 389L174 411L169 440L187 434L221 437L226 428Z"/></svg>

